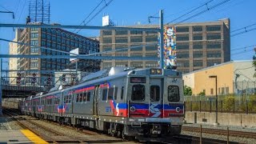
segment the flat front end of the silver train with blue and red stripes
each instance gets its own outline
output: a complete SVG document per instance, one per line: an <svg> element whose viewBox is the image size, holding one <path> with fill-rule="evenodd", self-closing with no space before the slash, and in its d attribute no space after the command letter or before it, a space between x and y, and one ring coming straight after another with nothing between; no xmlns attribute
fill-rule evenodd
<svg viewBox="0 0 256 144"><path fill-rule="evenodd" d="M182 74L158 68L131 70L127 81L125 133L146 137L180 134L184 118Z"/></svg>

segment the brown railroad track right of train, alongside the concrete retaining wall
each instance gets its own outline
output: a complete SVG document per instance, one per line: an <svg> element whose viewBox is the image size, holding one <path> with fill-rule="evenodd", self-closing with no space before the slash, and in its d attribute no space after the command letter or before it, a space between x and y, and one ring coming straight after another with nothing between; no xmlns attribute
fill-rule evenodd
<svg viewBox="0 0 256 144"><path fill-rule="evenodd" d="M200 127L182 126L182 130L200 133ZM227 135L228 131L220 130L220 129L202 128L202 133ZM242 138L256 138L256 133L246 132L246 131L229 130L229 135L234 137L242 137Z"/></svg>

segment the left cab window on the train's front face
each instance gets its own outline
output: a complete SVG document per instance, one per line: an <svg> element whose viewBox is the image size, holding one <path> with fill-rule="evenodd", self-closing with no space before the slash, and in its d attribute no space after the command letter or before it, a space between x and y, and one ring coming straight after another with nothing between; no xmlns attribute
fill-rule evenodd
<svg viewBox="0 0 256 144"><path fill-rule="evenodd" d="M145 86L143 85L134 85L132 87L131 94L132 101L144 101L145 100Z"/></svg>

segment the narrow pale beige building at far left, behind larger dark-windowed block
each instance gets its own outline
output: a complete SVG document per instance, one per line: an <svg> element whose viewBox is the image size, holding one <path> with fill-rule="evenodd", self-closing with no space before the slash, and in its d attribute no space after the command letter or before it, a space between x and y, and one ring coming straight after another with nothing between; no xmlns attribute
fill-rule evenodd
<svg viewBox="0 0 256 144"><path fill-rule="evenodd" d="M16 29L15 30L15 38L14 38L14 42L17 42L18 39L20 38L22 33L21 29ZM10 42L9 43L9 54L18 54L18 44L14 43L14 42ZM9 70L17 70L17 58L10 58L9 59ZM10 77L10 84L15 84L16 82L14 82L15 77L17 77L17 72L16 71L10 71L9 72L9 77Z"/></svg>

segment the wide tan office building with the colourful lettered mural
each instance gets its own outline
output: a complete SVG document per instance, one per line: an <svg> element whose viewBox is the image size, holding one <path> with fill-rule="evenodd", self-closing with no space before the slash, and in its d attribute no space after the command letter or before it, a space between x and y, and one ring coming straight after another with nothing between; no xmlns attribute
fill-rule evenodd
<svg viewBox="0 0 256 144"><path fill-rule="evenodd" d="M172 26L171 24L168 26ZM158 27L158 26L134 26ZM156 43L130 50L103 54L105 56L158 57L158 33L137 30L101 30L100 51L118 50ZM230 61L230 19L216 22L182 23L176 26L178 70L188 73L207 66ZM110 66L158 67L158 61L104 60L102 69Z"/></svg>

